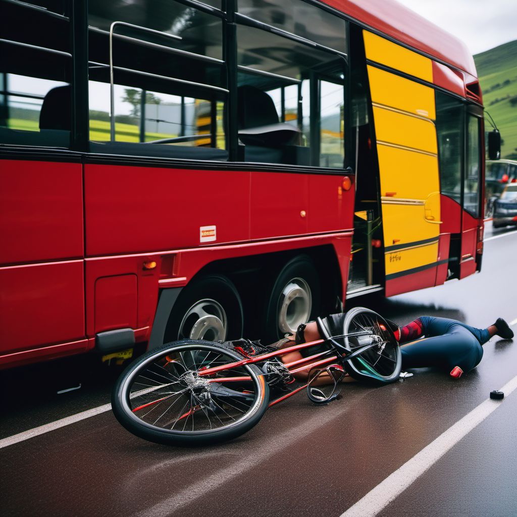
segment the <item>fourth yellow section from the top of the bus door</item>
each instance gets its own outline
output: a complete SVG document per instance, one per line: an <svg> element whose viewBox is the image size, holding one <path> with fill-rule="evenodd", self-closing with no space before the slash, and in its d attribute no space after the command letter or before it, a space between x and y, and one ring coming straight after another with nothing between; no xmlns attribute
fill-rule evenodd
<svg viewBox="0 0 517 517"><path fill-rule="evenodd" d="M398 147L377 145L381 196L425 200L440 190L438 158Z"/></svg>

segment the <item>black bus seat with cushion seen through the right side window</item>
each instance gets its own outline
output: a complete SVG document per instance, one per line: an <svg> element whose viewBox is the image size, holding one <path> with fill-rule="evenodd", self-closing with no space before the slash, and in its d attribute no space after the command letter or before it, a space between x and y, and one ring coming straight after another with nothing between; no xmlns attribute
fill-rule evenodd
<svg viewBox="0 0 517 517"><path fill-rule="evenodd" d="M296 145L300 130L278 121L273 99L254 86L240 86L237 90L239 140L245 145Z"/></svg>

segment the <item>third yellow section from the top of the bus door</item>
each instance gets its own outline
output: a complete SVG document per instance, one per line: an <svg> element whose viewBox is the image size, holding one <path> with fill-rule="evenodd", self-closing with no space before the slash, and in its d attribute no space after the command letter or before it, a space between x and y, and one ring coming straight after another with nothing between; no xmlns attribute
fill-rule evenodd
<svg viewBox="0 0 517 517"><path fill-rule="evenodd" d="M373 116L377 143L388 142L427 153L438 152L432 121L375 106Z"/></svg>

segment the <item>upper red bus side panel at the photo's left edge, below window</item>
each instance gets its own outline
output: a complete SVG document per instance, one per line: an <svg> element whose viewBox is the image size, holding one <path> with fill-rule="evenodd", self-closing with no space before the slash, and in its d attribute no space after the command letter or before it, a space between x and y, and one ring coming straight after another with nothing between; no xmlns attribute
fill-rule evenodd
<svg viewBox="0 0 517 517"><path fill-rule="evenodd" d="M83 256L81 164L0 161L0 264Z"/></svg>

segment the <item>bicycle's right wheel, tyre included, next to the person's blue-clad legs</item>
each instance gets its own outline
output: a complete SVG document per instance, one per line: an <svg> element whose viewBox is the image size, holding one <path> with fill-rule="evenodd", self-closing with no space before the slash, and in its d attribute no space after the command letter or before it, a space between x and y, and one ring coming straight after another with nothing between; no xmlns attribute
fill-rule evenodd
<svg viewBox="0 0 517 517"><path fill-rule="evenodd" d="M343 333L369 332L366 336L344 338L344 346L354 352L356 348L374 339L377 344L354 359L345 361L349 375L358 380L379 383L397 381L402 368L399 343L384 318L370 309L356 307L347 312L343 322Z"/></svg>

